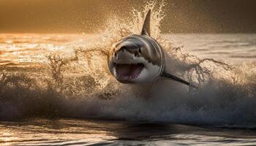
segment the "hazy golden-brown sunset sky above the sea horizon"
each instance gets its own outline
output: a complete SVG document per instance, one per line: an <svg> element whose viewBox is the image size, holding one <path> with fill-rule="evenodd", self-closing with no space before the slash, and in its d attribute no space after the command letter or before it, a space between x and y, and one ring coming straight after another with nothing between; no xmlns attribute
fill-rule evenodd
<svg viewBox="0 0 256 146"><path fill-rule="evenodd" d="M256 1L166 0L162 31L256 33ZM142 0L0 0L0 33L93 33Z"/></svg>

